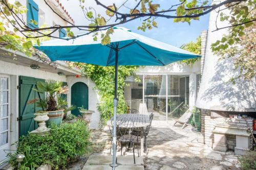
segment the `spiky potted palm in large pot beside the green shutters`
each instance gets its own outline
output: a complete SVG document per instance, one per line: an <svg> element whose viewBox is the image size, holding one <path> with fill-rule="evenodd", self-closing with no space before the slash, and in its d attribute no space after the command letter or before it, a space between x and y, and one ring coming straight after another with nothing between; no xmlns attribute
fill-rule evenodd
<svg viewBox="0 0 256 170"><path fill-rule="evenodd" d="M47 120L47 126L54 123L60 125L63 118L64 111L67 112L73 109L73 106L67 108L67 100L61 96L61 94L68 93L68 86L63 86L62 82L55 80L46 80L45 82L38 82L37 89L33 89L39 93L45 93L44 99L33 100L37 107L41 107L42 111L47 113L49 120ZM31 102L33 103L33 102ZM35 114L37 116L37 113ZM37 118L35 117L35 120Z"/></svg>

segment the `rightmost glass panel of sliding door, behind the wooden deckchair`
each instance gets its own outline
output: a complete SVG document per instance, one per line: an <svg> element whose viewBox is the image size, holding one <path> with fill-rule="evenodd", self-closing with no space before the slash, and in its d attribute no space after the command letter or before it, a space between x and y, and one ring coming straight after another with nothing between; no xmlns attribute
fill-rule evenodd
<svg viewBox="0 0 256 170"><path fill-rule="evenodd" d="M189 76L168 75L167 81L167 120L174 120L188 109Z"/></svg>

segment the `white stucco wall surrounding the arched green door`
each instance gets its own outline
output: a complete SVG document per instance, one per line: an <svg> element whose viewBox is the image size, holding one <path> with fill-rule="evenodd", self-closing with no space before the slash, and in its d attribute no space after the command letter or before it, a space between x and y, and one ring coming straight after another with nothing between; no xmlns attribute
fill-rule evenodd
<svg viewBox="0 0 256 170"><path fill-rule="evenodd" d="M98 128L99 126L99 112L97 109L97 105L99 103L99 95L96 90L94 90L95 83L86 77L76 78L75 76L67 76L67 83L71 91L71 87L76 82L82 82L88 86L88 110L93 110L95 113L92 114L92 120L90 124L90 128ZM71 104L71 93L68 94L68 102Z"/></svg>

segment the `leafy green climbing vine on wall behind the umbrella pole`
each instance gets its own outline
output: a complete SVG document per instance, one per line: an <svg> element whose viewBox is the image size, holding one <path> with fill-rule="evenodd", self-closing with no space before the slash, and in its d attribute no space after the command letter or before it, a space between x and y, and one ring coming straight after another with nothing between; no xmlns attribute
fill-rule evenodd
<svg viewBox="0 0 256 170"><path fill-rule="evenodd" d="M84 74L95 82L95 89L100 95L98 110L100 118L103 122L108 119L108 114L113 114L114 105L114 86L115 86L115 67L114 66L99 66L84 63L75 63L81 67ZM119 66L118 67L118 107L117 113L126 113L127 105L124 99L124 87L127 85L125 79L129 76L134 76L135 71L139 66ZM136 81L139 81L136 79Z"/></svg>

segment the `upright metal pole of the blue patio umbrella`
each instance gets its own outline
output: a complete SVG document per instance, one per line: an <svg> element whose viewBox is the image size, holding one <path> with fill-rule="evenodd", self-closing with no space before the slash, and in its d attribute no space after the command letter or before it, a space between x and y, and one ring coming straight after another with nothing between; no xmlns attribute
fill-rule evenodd
<svg viewBox="0 0 256 170"><path fill-rule="evenodd" d="M117 99L117 73L118 73L118 48L115 50L116 52L116 60L115 60L115 96L114 96L114 125L113 125L113 160L112 164L112 169L114 170L116 166L116 114L117 114L117 105L118 105L118 99Z"/></svg>

